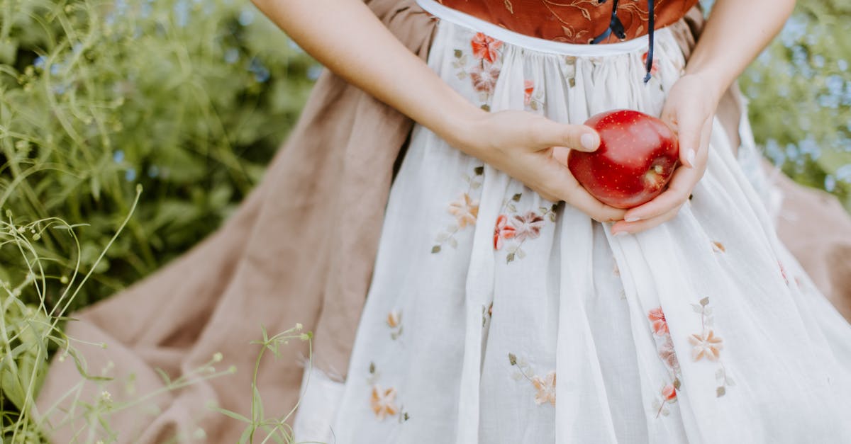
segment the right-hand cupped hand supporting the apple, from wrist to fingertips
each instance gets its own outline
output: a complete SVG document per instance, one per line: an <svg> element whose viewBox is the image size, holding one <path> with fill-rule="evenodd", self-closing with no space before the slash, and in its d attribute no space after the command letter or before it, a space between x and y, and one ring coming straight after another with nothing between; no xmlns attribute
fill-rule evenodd
<svg viewBox="0 0 851 444"><path fill-rule="evenodd" d="M694 186L703 177L709 157L712 120L720 99L720 94L711 85L711 79L687 74L671 87L661 119L677 133L682 165L674 171L667 190L652 201L627 211L624 220L612 226L613 234L653 228L673 219L688 202Z"/></svg>

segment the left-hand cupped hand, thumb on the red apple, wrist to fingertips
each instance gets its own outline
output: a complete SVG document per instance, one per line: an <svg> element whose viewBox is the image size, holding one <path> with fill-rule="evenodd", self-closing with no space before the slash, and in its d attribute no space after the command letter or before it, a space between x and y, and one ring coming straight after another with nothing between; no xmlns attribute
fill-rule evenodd
<svg viewBox="0 0 851 444"><path fill-rule="evenodd" d="M519 180L551 202L564 201L598 222L624 219L625 210L588 194L567 167L568 151L595 151L596 131L527 111L481 111L439 134L450 145Z"/></svg>

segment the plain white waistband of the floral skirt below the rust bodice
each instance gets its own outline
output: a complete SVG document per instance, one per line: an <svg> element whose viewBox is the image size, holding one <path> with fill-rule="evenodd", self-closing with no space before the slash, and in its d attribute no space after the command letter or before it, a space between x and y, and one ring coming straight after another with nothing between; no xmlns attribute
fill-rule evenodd
<svg viewBox="0 0 851 444"><path fill-rule="evenodd" d="M647 39L643 37L625 40L624 42L606 44L578 44L545 40L543 38L531 37L519 32L507 30L488 21L473 17L470 14L465 14L459 10L443 6L435 0L416 0L416 2L420 5L420 8L440 20L447 20L455 25L465 26L472 30L482 32L483 34L489 37L494 37L504 43L545 53L574 55L578 57L602 57L606 55L627 54L648 48ZM656 30L657 37L661 37L665 33L670 33L667 27Z"/></svg>

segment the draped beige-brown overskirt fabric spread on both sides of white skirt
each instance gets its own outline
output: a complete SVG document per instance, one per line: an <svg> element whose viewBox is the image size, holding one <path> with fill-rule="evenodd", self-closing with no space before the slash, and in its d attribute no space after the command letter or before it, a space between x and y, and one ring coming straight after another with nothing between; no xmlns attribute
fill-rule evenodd
<svg viewBox="0 0 851 444"><path fill-rule="evenodd" d="M391 31L425 58L434 21L413 0L367 0ZM702 18L694 9L675 33L688 52ZM734 127L734 95L719 109ZM328 71L313 89L300 122L269 166L266 177L219 231L157 273L111 299L72 314L67 334L89 373L113 381L83 384L79 399L94 403L103 390L113 405L163 387L155 368L172 379L190 374L220 352L217 370L237 373L207 379L147 398L107 415L118 442L190 439L203 429L207 442L236 442L244 424L208 408L211 401L250 417L251 380L260 326L270 334L297 322L315 333L314 364L345 377L363 308L394 164L412 122ZM735 133L733 133L735 134ZM835 200L781 182L797 219L782 219L780 234L831 300L851 318L851 221ZM825 221L831 221L826 225ZM822 225L818 225L822 224ZM812 228L803 230L802 227ZM101 348L97 344L107 344ZM308 344L267 354L258 372L267 418L295 405ZM71 406L69 390L81 378L72 360L54 356L37 408L59 425ZM50 407L54 407L46 414ZM72 423L53 433L71 442L87 420L77 407ZM265 434L260 434L265 436ZM106 435L104 435L106 436ZM82 436L84 441L86 435ZM261 439L257 440L258 442Z"/></svg>

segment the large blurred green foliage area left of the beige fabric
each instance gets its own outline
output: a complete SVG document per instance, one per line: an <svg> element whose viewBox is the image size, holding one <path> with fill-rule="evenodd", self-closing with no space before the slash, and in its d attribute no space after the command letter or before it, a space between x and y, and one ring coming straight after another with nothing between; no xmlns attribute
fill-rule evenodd
<svg viewBox="0 0 851 444"><path fill-rule="evenodd" d="M71 309L219 226L260 179L317 69L250 3L6 0L0 14L0 208L86 224L88 272L135 184L146 190ZM32 240L54 261L52 279L77 260L53 231ZM0 277L26 275L3 254Z"/></svg>

